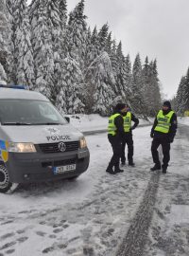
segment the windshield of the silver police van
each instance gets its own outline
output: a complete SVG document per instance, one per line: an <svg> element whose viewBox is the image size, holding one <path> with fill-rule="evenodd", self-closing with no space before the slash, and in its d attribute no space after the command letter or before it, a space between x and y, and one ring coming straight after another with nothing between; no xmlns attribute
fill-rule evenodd
<svg viewBox="0 0 189 256"><path fill-rule="evenodd" d="M50 125L66 124L67 121L48 101L0 100L2 125Z"/></svg>

